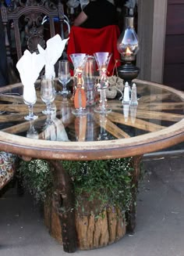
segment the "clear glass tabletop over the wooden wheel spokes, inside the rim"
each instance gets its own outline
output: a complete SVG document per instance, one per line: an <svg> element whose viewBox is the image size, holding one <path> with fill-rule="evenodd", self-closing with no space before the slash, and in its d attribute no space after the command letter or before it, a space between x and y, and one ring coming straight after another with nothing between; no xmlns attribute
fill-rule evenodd
<svg viewBox="0 0 184 256"><path fill-rule="evenodd" d="M124 139L150 132L157 132L181 121L184 117L184 99L163 88L147 82L136 82L139 95L138 106L123 105L120 96L108 99L109 114L97 114L94 106L88 106L88 114L75 116L73 100L57 95L51 104L53 113L42 114L45 104L41 101L37 84L35 121L25 121L27 106L22 96L4 92L1 95L1 130L31 139L57 141L99 141Z"/></svg>

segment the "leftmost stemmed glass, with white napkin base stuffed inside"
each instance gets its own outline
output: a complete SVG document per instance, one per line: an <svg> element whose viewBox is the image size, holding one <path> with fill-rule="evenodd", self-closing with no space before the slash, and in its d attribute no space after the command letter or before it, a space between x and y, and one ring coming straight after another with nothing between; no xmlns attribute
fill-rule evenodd
<svg viewBox="0 0 184 256"><path fill-rule="evenodd" d="M33 109L34 104L37 101L37 94L34 86L33 87L31 86L29 90L25 90L25 88L23 89L23 101L28 106L28 109L29 109L29 114L26 117L24 117L24 119L26 119L27 121L37 119L37 115L34 114L34 109Z"/></svg>

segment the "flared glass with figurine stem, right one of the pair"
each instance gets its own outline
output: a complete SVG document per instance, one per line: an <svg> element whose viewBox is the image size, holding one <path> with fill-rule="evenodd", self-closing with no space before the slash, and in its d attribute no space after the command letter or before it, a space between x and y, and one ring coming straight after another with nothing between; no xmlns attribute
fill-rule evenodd
<svg viewBox="0 0 184 256"><path fill-rule="evenodd" d="M94 111L101 114L111 112L111 109L107 107L107 98L105 90L108 88L108 63L111 59L111 53L109 52L95 52L94 58L97 62L97 67L100 72L100 82L97 84L97 90L101 94L99 105L94 108Z"/></svg>

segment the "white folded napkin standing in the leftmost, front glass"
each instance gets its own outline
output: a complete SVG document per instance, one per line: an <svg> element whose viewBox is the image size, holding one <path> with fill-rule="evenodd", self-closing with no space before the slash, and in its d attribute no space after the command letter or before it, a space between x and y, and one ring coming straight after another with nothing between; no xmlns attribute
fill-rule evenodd
<svg viewBox="0 0 184 256"><path fill-rule="evenodd" d="M23 84L23 99L27 103L35 103L37 96L34 83L44 67L44 57L41 54L23 52L23 56L16 63L19 76Z"/></svg>

